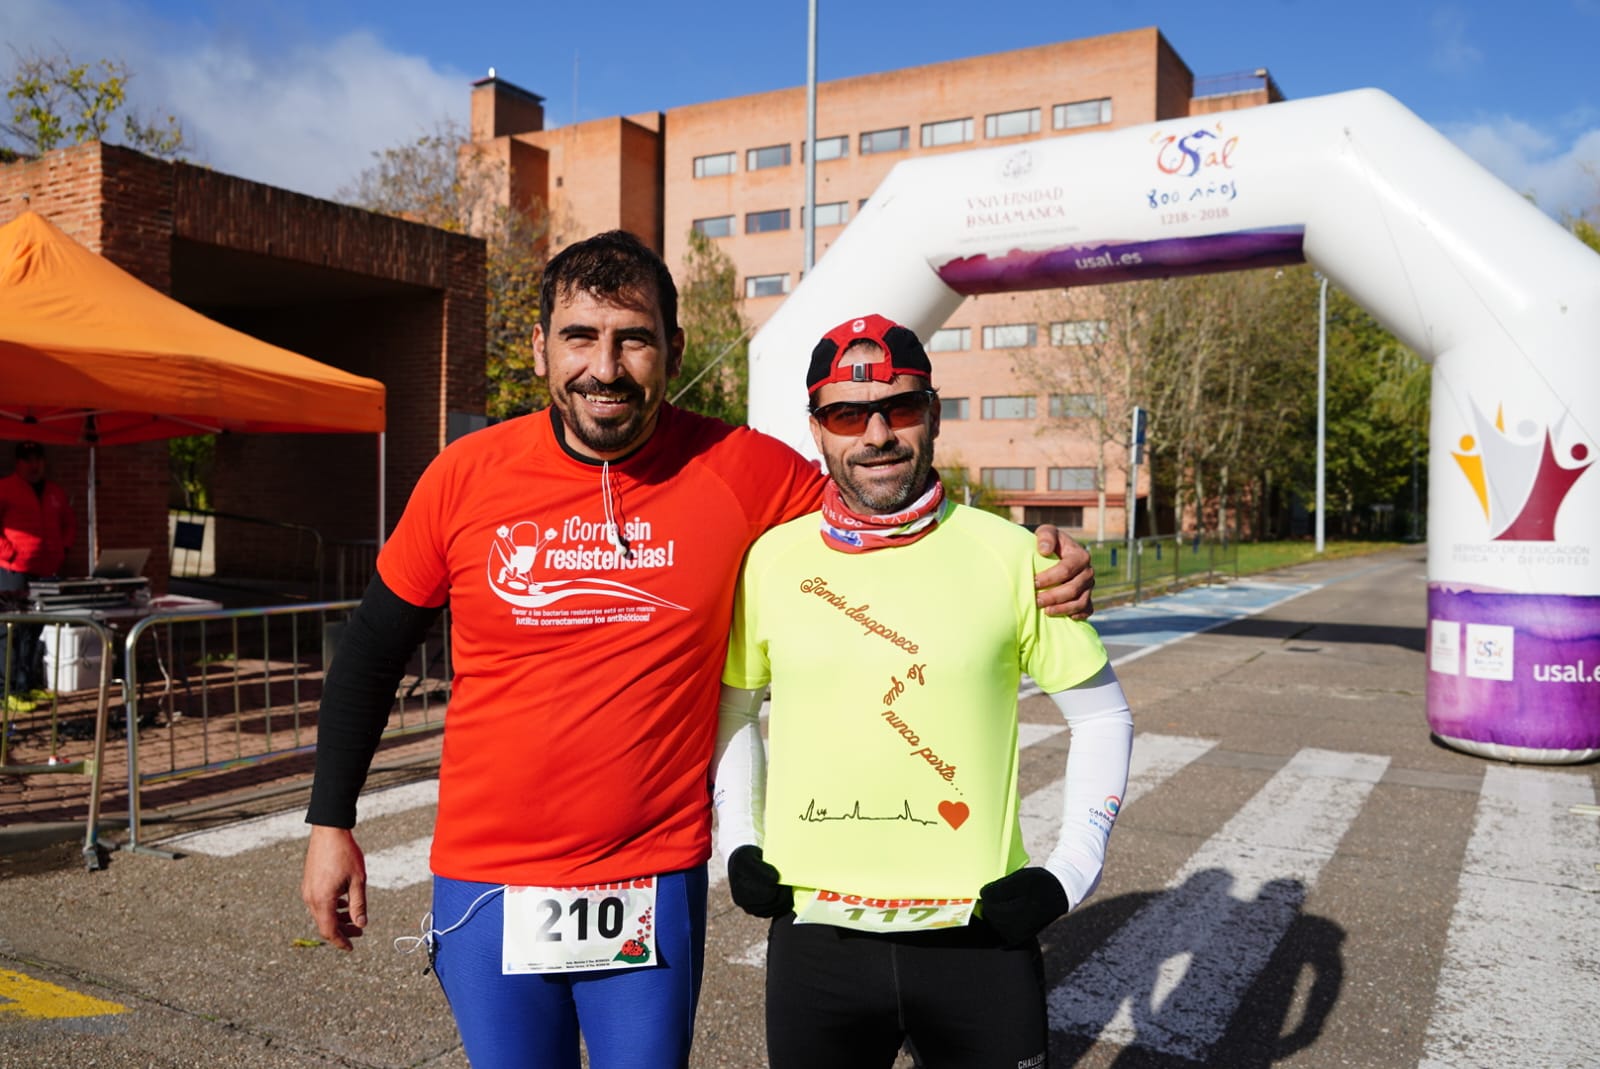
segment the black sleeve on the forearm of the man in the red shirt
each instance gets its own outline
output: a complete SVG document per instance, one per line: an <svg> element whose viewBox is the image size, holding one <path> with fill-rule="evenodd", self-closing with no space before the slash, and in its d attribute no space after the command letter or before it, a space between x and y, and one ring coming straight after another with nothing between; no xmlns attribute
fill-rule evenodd
<svg viewBox="0 0 1600 1069"><path fill-rule="evenodd" d="M389 723L400 675L440 611L442 605L411 605L373 576L322 685L307 824L355 827L355 799Z"/></svg>

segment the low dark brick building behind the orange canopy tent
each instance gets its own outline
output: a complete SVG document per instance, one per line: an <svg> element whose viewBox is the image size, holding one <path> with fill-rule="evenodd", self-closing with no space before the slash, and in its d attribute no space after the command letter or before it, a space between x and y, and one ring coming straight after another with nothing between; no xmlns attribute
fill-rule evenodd
<svg viewBox="0 0 1600 1069"><path fill-rule="evenodd" d="M483 413L482 240L99 142L0 165L0 222L29 208L214 320L384 382L389 526L443 448L451 416ZM82 526L88 450L48 453ZM170 567L171 483L165 442L96 450L99 544L150 546L157 591ZM310 528L328 544L370 544L378 442L221 435L213 507ZM274 557L288 539L259 530L216 547L219 573L282 575ZM80 530L69 571L86 575L86 544Z"/></svg>

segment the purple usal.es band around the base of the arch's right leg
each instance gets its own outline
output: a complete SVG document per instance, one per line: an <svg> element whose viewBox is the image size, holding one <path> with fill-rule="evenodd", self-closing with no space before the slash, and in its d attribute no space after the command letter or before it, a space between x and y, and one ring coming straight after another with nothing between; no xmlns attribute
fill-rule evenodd
<svg viewBox="0 0 1600 1069"><path fill-rule="evenodd" d="M1600 752L1600 597L1434 583L1427 618L1434 735L1523 760Z"/></svg>

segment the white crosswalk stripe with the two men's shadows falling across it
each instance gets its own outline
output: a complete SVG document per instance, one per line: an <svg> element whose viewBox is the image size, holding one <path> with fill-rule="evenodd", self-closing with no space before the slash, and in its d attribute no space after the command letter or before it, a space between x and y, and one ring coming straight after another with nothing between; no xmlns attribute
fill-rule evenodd
<svg viewBox="0 0 1600 1069"><path fill-rule="evenodd" d="M1387 767L1296 754L1050 992L1051 1027L1205 1061Z"/></svg>

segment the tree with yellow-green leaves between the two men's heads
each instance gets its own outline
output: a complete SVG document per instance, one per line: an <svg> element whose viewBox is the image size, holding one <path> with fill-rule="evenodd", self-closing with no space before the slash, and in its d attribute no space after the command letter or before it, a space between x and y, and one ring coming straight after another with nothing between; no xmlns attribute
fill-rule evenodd
<svg viewBox="0 0 1600 1069"><path fill-rule="evenodd" d="M734 426L749 414L750 325L739 302L739 269L709 237L690 230L678 274L683 373L672 403Z"/></svg>

